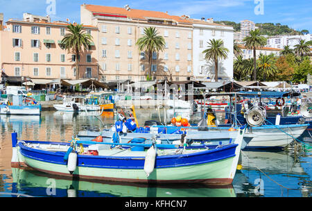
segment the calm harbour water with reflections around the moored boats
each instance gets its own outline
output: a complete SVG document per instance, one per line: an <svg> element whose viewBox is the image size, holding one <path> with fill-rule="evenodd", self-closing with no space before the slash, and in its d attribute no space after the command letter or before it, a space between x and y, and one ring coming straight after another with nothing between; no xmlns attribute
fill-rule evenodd
<svg viewBox="0 0 312 211"><path fill-rule="evenodd" d="M178 111L177 111L178 112ZM167 117L172 117L169 110ZM185 113L185 115L189 115ZM164 119L161 112L162 121ZM300 153L290 151L243 151L243 168L236 172L234 183L227 187L204 185L129 185L125 183L92 183L67 178L57 178L27 169L11 168L11 133L18 133L19 140L67 142L83 126L103 128L114 123L110 112L99 117L83 113L45 111L41 117L0 116L0 197L5 193L26 194L40 197L310 197L312 190L311 149ZM139 124L157 120L157 110L137 110ZM198 121L200 115L191 116ZM304 137L306 137L304 139ZM301 140L310 145L311 135L304 133ZM310 142L309 142L310 140Z"/></svg>

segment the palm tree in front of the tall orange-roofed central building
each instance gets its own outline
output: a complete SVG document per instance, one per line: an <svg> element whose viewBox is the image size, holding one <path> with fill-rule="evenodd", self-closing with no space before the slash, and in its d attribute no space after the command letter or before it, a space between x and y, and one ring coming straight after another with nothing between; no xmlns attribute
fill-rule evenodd
<svg viewBox="0 0 312 211"><path fill-rule="evenodd" d="M148 53L148 64L150 65L149 76L152 75L152 57L153 52L164 51L166 42L164 37L158 35L155 27L144 28L144 36L137 40L139 51Z"/></svg>

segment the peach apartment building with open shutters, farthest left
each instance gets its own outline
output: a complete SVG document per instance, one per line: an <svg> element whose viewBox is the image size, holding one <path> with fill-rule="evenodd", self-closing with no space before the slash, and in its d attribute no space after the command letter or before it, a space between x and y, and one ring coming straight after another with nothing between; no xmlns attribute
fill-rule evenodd
<svg viewBox="0 0 312 211"><path fill-rule="evenodd" d="M50 17L24 14L21 20L9 19L0 31L0 67L8 76L28 78L76 79L76 56L62 47L67 22L51 22ZM84 26L98 42L98 30ZM79 58L78 78L98 78L98 56L94 44Z"/></svg>

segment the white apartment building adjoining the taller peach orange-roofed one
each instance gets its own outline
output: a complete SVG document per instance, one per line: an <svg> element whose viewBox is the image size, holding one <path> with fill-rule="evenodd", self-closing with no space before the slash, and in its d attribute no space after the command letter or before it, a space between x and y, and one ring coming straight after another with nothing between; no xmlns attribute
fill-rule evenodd
<svg viewBox="0 0 312 211"><path fill-rule="evenodd" d="M233 39L234 29L232 26L215 24L211 19L188 19L193 24L193 76L197 80L214 80L215 65L212 60L205 60L202 53L208 48L208 42L212 39L223 40L223 46L229 52L227 59L218 61L218 78L227 81L233 78Z"/></svg>

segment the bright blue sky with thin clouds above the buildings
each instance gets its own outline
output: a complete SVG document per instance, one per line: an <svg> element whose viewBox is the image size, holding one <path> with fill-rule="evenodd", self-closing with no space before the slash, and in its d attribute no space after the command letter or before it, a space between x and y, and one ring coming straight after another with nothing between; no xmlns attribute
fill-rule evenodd
<svg viewBox="0 0 312 211"><path fill-rule="evenodd" d="M311 0L0 0L0 12L5 20L21 19L24 12L35 15L46 15L46 8L55 1L55 15L52 20L80 22L80 4L96 4L142 10L157 10L170 15L190 15L192 18L214 17L215 20L228 20L239 23L250 19L256 23L280 23L296 30L307 29L312 33L312 1ZM255 8L263 2L263 15L256 15Z"/></svg>

